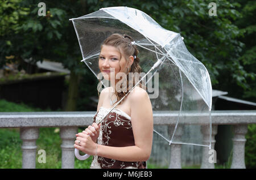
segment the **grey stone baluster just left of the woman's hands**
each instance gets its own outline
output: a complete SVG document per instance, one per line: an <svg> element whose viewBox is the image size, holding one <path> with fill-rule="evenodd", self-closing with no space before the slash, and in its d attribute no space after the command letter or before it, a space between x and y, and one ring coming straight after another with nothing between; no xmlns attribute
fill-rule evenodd
<svg viewBox="0 0 256 180"><path fill-rule="evenodd" d="M61 144L61 168L73 169L75 164L75 148L74 143L76 140L77 127L61 127L60 138Z"/></svg>

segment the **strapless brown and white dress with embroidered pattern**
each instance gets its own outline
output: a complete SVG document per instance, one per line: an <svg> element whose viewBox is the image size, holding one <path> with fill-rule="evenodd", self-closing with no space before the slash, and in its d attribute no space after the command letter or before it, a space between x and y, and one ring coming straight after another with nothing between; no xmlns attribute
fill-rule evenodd
<svg viewBox="0 0 256 180"><path fill-rule="evenodd" d="M94 115L93 122L98 123L112 108L101 107ZM113 109L101 122L98 144L112 147L126 147L135 145L131 117L120 109ZM90 168L122 169L122 168L146 168L145 161L126 162L101 156L93 156Z"/></svg>

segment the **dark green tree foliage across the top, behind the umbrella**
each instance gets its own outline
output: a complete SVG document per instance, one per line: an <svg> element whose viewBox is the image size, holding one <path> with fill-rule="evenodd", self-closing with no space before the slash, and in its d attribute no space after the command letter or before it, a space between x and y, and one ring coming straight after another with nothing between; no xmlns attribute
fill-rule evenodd
<svg viewBox="0 0 256 180"><path fill-rule="evenodd" d="M209 16L210 0L44 1L47 15L38 16L38 1L3 1L0 20L0 66L43 58L62 62L76 74L90 74L81 63L73 24L68 20L102 7L127 6L150 15L162 27L179 32L189 50L207 67L213 88L230 96L256 101L255 1L214 1L217 16ZM90 74L92 75L92 74ZM93 75L92 75L93 76ZM81 90L80 90L81 91ZM84 100L86 101L86 100Z"/></svg>

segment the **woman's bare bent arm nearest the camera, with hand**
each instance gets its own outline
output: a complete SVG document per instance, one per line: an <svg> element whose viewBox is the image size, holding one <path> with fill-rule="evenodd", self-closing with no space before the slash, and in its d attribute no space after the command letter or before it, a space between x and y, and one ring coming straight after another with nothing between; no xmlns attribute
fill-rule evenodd
<svg viewBox="0 0 256 180"><path fill-rule="evenodd" d="M119 161L146 161L150 157L153 135L153 115L150 99L147 92L141 88L135 88L129 96L135 145L129 147L109 147L98 144L97 156L113 158ZM77 146L78 149L90 155L95 155L96 144L92 142L90 136L85 134L81 134L81 136L84 136L83 138L86 141L84 142L82 137L78 137L77 140L83 142L81 148Z"/></svg>

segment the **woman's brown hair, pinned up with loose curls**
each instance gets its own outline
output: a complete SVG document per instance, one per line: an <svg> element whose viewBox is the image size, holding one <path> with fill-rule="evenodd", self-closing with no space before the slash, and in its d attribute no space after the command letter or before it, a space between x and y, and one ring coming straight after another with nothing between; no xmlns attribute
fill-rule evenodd
<svg viewBox="0 0 256 180"><path fill-rule="evenodd" d="M138 58L139 51L137 49L137 46L131 44L131 42L133 42L133 38L131 38L131 36L114 33L113 35L106 38L102 45L114 46L119 50L121 57L122 57L122 54L125 55L126 60L130 57L130 55L133 55L134 62L131 65L129 72L133 72L133 73L138 72L138 74L140 74L141 66L139 66L139 58ZM135 75L138 75L138 74L135 74ZM127 73L126 79L127 79L126 92L123 92L123 91L117 92L114 88L114 94L117 96L117 102L121 100L121 98L125 96L126 93L129 92L131 88L134 87L134 85L141 79L141 77L133 76L133 79L129 79L129 73ZM133 83L131 83L130 81L133 81ZM132 87L129 87L129 82L132 84ZM139 83L139 87L144 88L144 86L142 85L142 82ZM121 103L122 102L120 102L120 104Z"/></svg>

